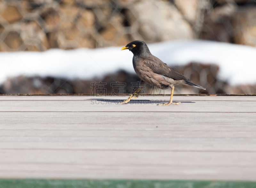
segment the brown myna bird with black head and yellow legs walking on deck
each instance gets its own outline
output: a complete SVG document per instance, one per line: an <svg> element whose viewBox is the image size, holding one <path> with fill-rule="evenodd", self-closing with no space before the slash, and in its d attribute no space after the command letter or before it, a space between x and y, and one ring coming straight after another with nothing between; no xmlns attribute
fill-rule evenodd
<svg viewBox="0 0 256 188"><path fill-rule="evenodd" d="M133 53L133 68L141 80L151 86L156 86L160 89L172 88L170 101L168 103L159 105L178 105L180 103L172 102L174 85L188 84L205 90L204 87L193 83L191 80L183 76L178 70L169 67L166 63L158 59L156 56L152 55L145 42L140 40L132 41L125 47L121 48L121 50L126 49L130 50ZM132 95L130 95L128 99L118 104L126 104L132 98L138 98L138 92L140 90L141 88L139 88ZM136 94L137 96L135 97Z"/></svg>

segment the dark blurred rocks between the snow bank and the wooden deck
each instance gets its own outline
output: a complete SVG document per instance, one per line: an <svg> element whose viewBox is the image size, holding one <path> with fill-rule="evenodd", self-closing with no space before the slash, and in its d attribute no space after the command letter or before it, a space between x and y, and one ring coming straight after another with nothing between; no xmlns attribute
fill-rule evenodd
<svg viewBox="0 0 256 188"><path fill-rule="evenodd" d="M254 85L231 86L223 80L217 79L219 67L214 64L203 64L191 62L186 66L176 68L194 83L202 85L206 90L200 90L186 85L175 86L175 94L255 94ZM120 88L117 94L131 93L140 83L139 77L134 73L119 70L91 80L67 80L60 77L26 77L17 76L8 78L0 85L2 94L95 94L94 83L104 87L107 94L116 94L117 87ZM154 90L149 85L140 83L144 90L143 94L168 94L170 90Z"/></svg>

